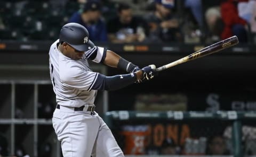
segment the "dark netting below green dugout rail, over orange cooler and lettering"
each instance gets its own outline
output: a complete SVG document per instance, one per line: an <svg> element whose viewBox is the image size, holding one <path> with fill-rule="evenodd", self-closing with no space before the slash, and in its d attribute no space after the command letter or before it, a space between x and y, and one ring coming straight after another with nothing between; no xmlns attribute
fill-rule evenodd
<svg viewBox="0 0 256 157"><path fill-rule="evenodd" d="M256 124L242 121L244 155L256 155ZM114 136L125 154L233 155L233 121L220 119L113 120Z"/></svg>

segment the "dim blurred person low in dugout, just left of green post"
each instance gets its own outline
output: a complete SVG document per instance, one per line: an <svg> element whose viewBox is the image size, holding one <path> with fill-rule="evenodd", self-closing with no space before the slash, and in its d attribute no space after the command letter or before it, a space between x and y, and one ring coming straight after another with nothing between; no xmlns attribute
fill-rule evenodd
<svg viewBox="0 0 256 157"><path fill-rule="evenodd" d="M214 135L208 139L207 155L229 155L226 149L226 141L222 135Z"/></svg>

